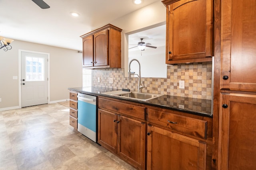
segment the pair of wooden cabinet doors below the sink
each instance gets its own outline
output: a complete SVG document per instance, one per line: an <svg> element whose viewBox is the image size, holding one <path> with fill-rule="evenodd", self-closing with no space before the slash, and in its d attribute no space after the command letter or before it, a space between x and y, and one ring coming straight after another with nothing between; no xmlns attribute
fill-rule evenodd
<svg viewBox="0 0 256 170"><path fill-rule="evenodd" d="M145 168L146 124L98 109L98 143L138 169Z"/></svg>

